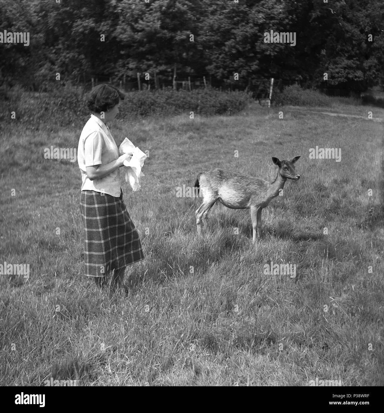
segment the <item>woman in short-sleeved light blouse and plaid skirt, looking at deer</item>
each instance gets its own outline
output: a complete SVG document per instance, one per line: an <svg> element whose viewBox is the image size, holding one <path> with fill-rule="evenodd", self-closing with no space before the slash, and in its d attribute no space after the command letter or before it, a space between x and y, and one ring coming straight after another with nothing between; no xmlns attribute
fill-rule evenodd
<svg viewBox="0 0 384 413"><path fill-rule="evenodd" d="M107 123L119 113L124 94L112 85L91 90L92 112L80 135L77 160L81 170L80 209L85 228L85 273L102 287L114 270L111 289L123 287L125 267L144 258L140 238L123 202L119 168L130 155L119 157Z"/></svg>

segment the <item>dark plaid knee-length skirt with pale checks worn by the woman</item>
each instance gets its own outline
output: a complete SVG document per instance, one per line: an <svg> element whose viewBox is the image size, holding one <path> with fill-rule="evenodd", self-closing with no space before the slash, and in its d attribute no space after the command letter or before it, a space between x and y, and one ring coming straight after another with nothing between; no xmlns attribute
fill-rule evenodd
<svg viewBox="0 0 384 413"><path fill-rule="evenodd" d="M85 274L105 277L144 259L138 232L120 197L84 190L80 196L85 228Z"/></svg>

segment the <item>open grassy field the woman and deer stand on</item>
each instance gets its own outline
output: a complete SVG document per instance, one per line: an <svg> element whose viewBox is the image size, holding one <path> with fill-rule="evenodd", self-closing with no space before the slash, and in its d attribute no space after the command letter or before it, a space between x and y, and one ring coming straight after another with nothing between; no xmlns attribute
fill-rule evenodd
<svg viewBox="0 0 384 413"><path fill-rule="evenodd" d="M297 109L114 121L117 145L149 151L142 189L122 182L146 257L126 272L128 297L84 277L77 161L43 157L77 148L81 129L4 128L0 263L28 263L30 276L0 278L0 384L384 385L384 123ZM309 159L316 146L341 148L341 161ZM200 199L177 187L211 167L273 180L271 157L295 155L301 179L263 211L261 240L249 211L217 205L197 237ZM295 264L296 278L266 275L270 261Z"/></svg>

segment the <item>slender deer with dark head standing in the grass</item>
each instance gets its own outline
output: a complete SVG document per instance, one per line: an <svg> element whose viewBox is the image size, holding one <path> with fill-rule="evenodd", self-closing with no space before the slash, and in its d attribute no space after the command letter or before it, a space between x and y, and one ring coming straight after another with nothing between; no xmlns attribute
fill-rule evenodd
<svg viewBox="0 0 384 413"><path fill-rule="evenodd" d="M279 167L277 176L271 183L253 176L244 175L226 169L211 169L199 173L195 188L203 196L203 203L196 210L197 233L202 235L203 220L208 220L208 213L218 201L231 209L250 209L253 237L261 237L261 212L274 197L279 195L287 179L299 180L300 175L295 172L295 163L300 156L291 161L272 157L272 162Z"/></svg>

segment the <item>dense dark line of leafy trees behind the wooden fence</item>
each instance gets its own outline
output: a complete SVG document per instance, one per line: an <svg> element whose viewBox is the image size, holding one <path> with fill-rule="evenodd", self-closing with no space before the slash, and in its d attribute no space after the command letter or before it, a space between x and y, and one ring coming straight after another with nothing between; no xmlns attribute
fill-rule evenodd
<svg viewBox="0 0 384 413"><path fill-rule="evenodd" d="M384 78L382 0L4 0L0 23L29 33L27 47L0 36L9 85L140 73L365 90Z"/></svg>

